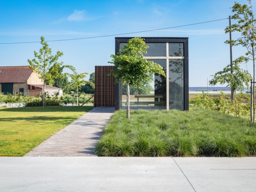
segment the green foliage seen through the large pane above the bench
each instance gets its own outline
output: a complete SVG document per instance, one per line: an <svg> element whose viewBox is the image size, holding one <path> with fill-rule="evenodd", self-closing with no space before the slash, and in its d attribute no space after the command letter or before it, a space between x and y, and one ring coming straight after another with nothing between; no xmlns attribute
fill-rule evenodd
<svg viewBox="0 0 256 192"><path fill-rule="evenodd" d="M143 82L143 87L140 89L138 87L133 87L130 86L130 94L131 95L148 95L150 91L154 91L153 87L150 85L151 82L154 81L154 77L153 74L148 74L149 75L149 79L150 82ZM126 94L126 88L127 88L127 84L126 82L122 83L122 94L125 95Z"/></svg>

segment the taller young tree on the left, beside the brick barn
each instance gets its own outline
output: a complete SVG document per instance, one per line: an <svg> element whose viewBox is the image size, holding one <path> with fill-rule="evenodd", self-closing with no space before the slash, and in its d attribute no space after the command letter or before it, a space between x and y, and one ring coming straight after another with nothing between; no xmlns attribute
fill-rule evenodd
<svg viewBox="0 0 256 192"><path fill-rule="evenodd" d="M39 50L39 53L34 51L34 55L38 60L36 60L36 58L32 61L28 59L28 63L29 68L35 71L38 74L38 77L43 80L42 100L43 107L45 107L45 83L46 81L53 83L53 80L59 76L58 69L63 65L63 62L58 62L58 59L63 55L63 52L58 51L56 55L52 55L52 49L49 48L47 42L44 41L44 36L41 36L41 44L43 47Z"/></svg>

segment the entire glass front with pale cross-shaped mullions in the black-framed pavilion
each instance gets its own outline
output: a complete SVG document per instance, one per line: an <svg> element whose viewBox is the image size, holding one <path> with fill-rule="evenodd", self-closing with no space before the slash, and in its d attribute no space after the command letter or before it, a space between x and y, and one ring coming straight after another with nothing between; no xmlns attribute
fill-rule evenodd
<svg viewBox="0 0 256 192"><path fill-rule="evenodd" d="M122 44L126 45L120 43L120 49L124 48ZM148 74L151 82L148 84L145 82L142 89L130 86L130 109L184 110L183 43L146 43L146 45L148 45L148 54L145 54L144 58L161 65L165 74L167 72L166 76L169 77L166 79L159 74ZM126 110L126 88L126 82L120 82L120 110Z"/></svg>

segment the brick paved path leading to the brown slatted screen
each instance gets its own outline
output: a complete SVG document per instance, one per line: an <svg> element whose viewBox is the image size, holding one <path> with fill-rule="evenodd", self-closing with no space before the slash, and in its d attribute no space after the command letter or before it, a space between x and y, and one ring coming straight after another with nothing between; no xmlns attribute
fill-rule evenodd
<svg viewBox="0 0 256 192"><path fill-rule="evenodd" d="M95 145L114 111L111 107L93 108L25 156L96 156Z"/></svg>

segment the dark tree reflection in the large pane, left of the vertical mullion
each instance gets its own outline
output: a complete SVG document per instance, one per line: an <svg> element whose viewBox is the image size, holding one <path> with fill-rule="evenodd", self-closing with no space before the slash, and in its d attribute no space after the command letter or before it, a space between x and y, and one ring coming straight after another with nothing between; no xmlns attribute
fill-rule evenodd
<svg viewBox="0 0 256 192"><path fill-rule="evenodd" d="M163 67L164 73L166 74L166 68ZM166 101L166 77L155 74L155 95L163 95L160 101ZM158 98L155 98L158 101ZM158 104L159 105L159 104ZM155 104L155 106L158 106Z"/></svg>

